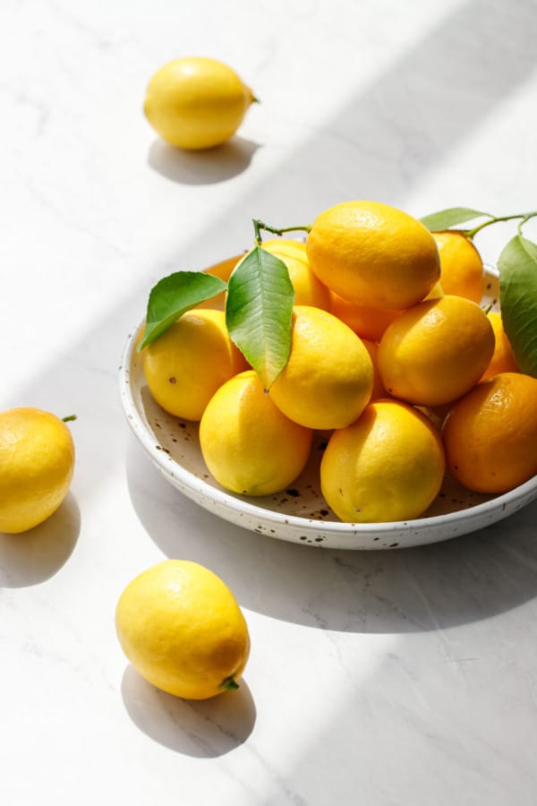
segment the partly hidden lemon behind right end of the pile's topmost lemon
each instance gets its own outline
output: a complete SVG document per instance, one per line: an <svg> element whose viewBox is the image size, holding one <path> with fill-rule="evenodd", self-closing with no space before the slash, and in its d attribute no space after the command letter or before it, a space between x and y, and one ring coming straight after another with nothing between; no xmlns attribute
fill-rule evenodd
<svg viewBox="0 0 537 806"><path fill-rule="evenodd" d="M433 232L440 255L440 283L445 294L481 302L485 272L481 254L463 232L449 229Z"/></svg>

